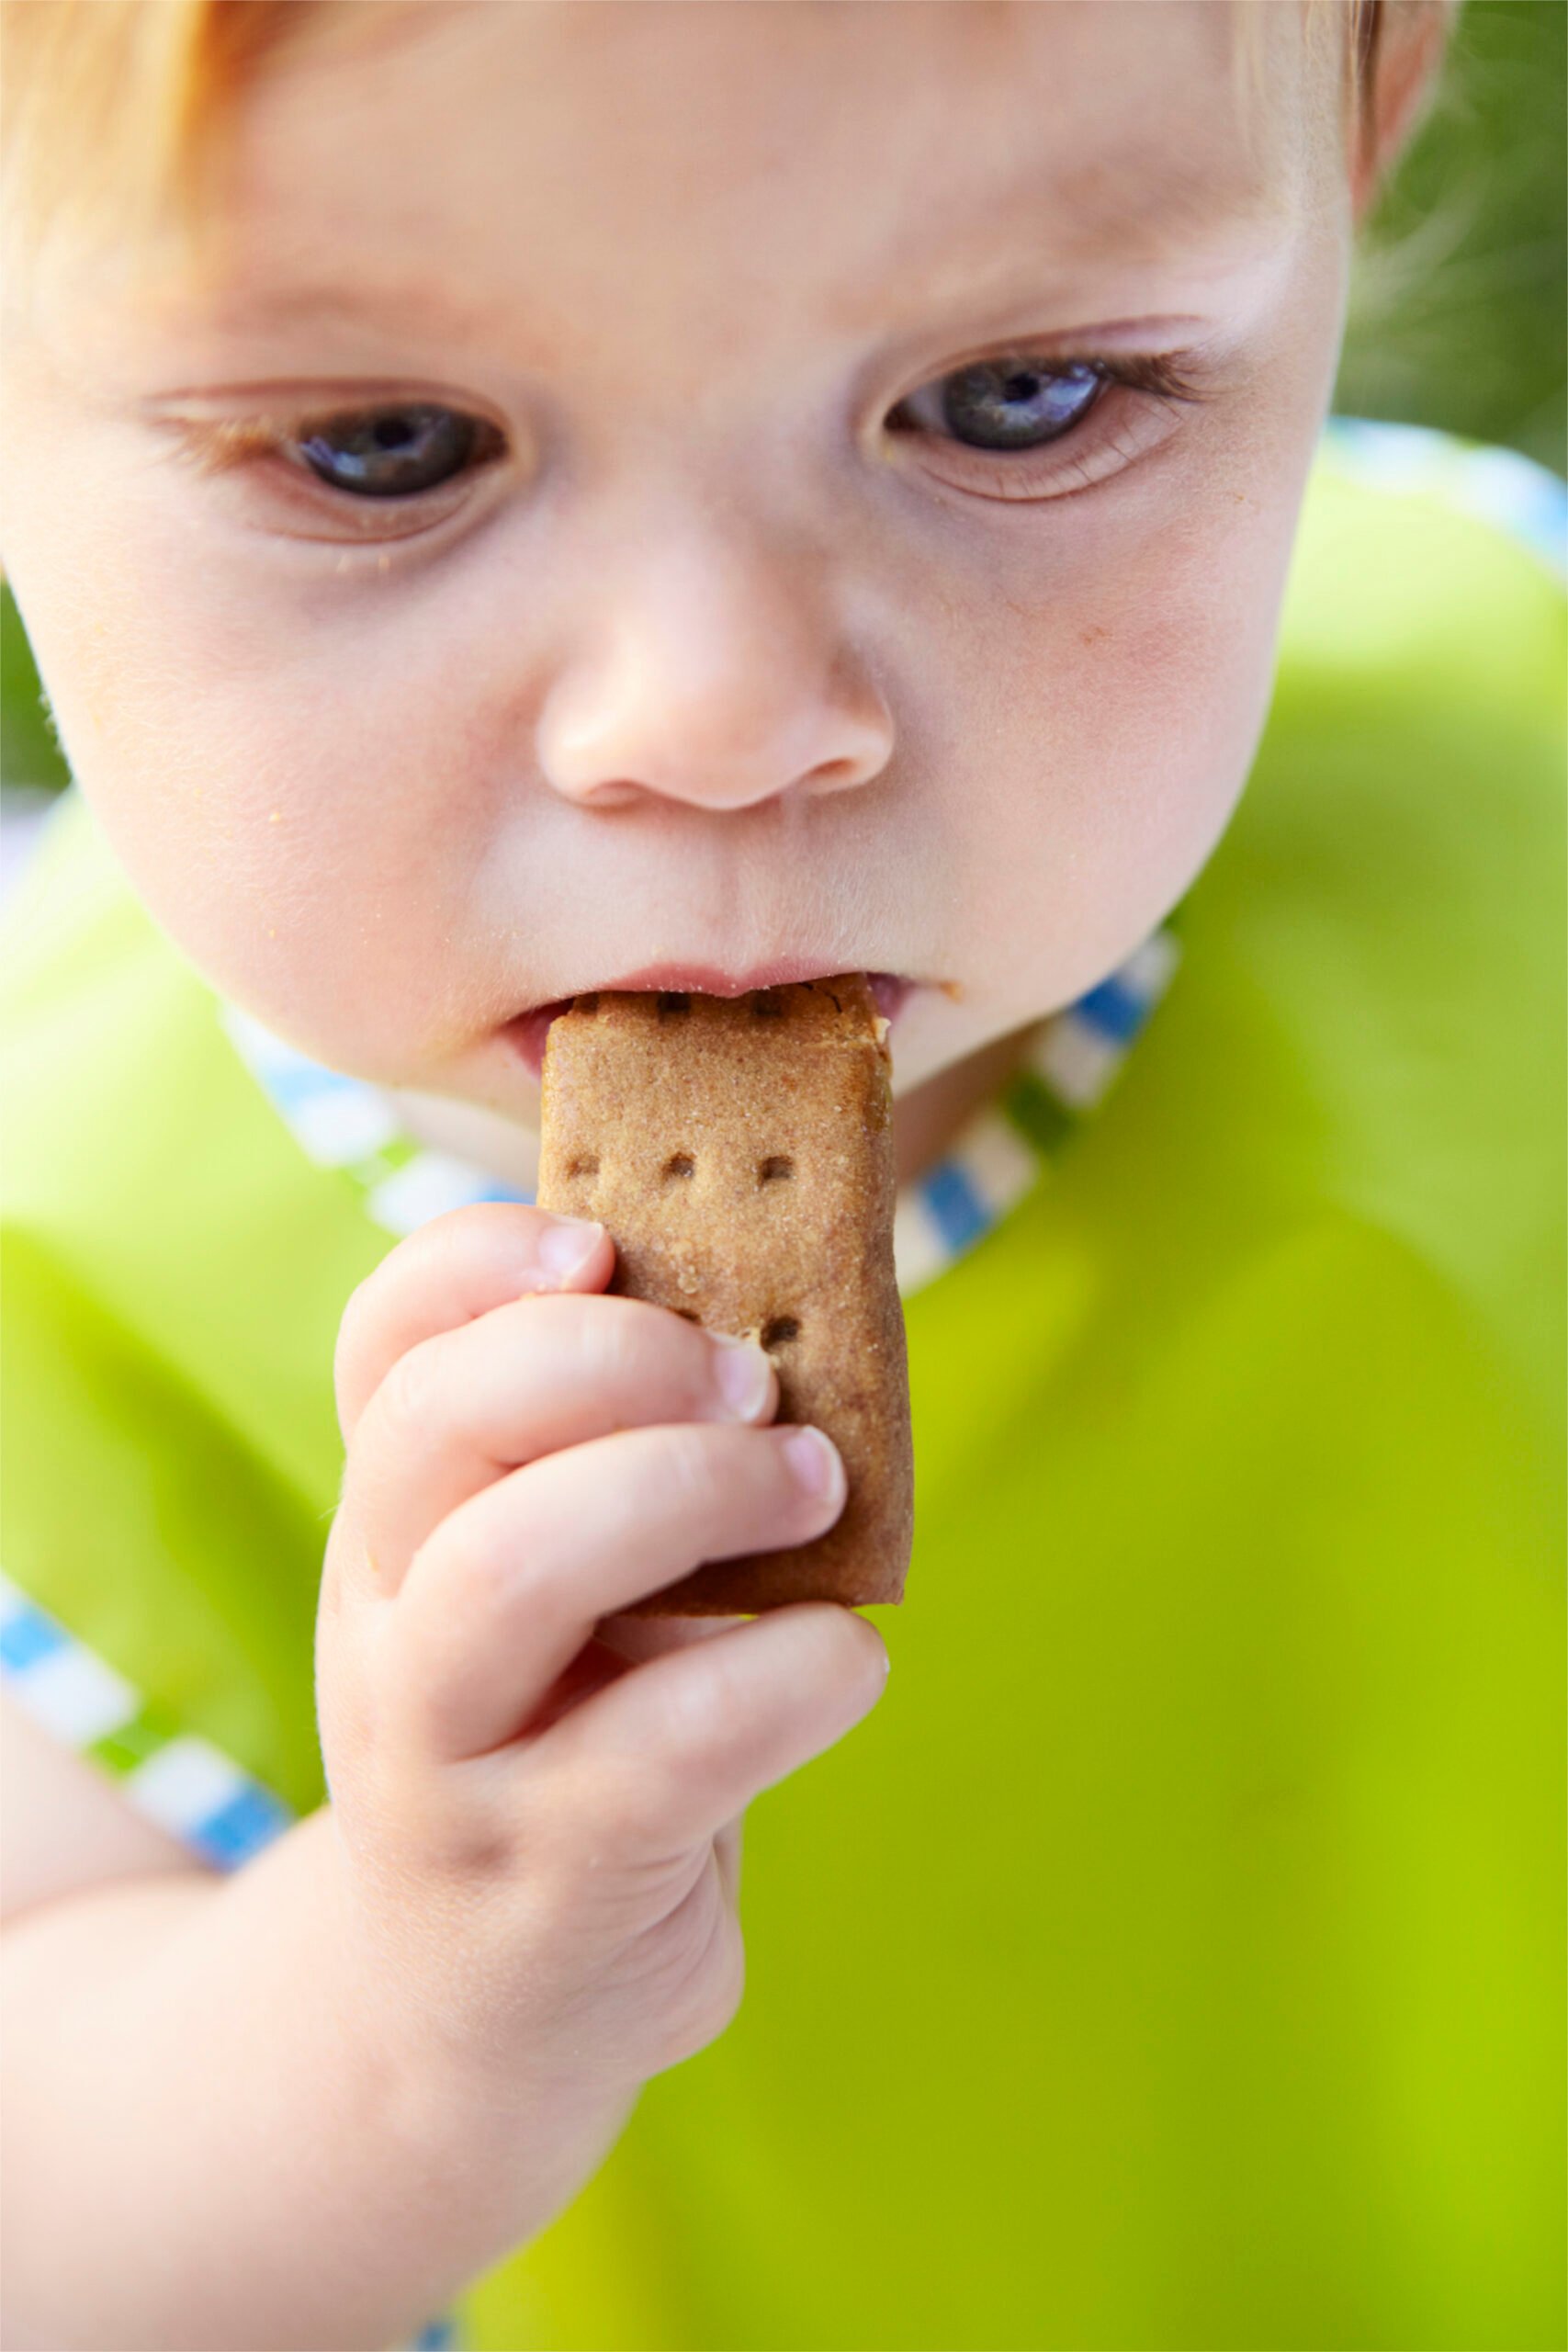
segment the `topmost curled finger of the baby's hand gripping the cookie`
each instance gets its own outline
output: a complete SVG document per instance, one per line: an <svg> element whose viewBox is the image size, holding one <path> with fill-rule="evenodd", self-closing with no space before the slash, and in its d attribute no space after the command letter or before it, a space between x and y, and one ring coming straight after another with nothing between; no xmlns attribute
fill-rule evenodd
<svg viewBox="0 0 1568 2352"><path fill-rule="evenodd" d="M334 1364L343 1437L397 1357L423 1338L534 1291L602 1291L614 1265L604 1225L515 1202L475 1202L421 1225L343 1308Z"/></svg>

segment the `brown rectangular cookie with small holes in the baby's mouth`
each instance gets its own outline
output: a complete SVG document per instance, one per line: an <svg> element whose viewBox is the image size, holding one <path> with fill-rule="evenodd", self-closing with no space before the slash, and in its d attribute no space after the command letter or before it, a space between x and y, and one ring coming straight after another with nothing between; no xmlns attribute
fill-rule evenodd
<svg viewBox="0 0 1568 2352"><path fill-rule="evenodd" d="M762 1341L778 1418L827 1430L849 1501L816 1543L708 1562L639 1616L903 1599L910 1388L893 1124L865 974L743 997L576 997L550 1023L538 1204L597 1216L611 1291Z"/></svg>

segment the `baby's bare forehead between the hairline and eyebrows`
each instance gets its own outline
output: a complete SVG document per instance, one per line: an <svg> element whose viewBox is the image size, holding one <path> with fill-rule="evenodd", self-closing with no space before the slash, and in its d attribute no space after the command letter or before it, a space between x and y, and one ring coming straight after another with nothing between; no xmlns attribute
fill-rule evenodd
<svg viewBox="0 0 1568 2352"><path fill-rule="evenodd" d="M1225 0L508 0L313 12L240 108L214 308L548 339L724 285L896 329L1105 261L1267 235L1300 200L1300 12ZM348 266L348 278L346 278Z"/></svg>

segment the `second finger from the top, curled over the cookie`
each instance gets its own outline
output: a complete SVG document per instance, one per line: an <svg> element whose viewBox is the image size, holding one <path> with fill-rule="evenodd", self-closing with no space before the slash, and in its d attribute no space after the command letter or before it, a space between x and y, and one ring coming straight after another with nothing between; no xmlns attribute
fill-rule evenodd
<svg viewBox="0 0 1568 2352"><path fill-rule="evenodd" d="M508 1470L614 1430L776 1409L755 1341L642 1298L520 1298L397 1357L360 1416L343 1510L386 1597L440 1522Z"/></svg>

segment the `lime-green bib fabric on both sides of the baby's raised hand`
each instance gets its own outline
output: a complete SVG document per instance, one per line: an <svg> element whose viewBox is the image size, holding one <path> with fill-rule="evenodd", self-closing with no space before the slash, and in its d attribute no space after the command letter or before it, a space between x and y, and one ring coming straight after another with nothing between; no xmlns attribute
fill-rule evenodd
<svg viewBox="0 0 1568 2352"><path fill-rule="evenodd" d="M889 1696L489 2352L1563 2340L1563 604L1309 494L1182 967L910 1301ZM2 1002L7 1569L294 1804L383 1254L92 828Z"/></svg>

